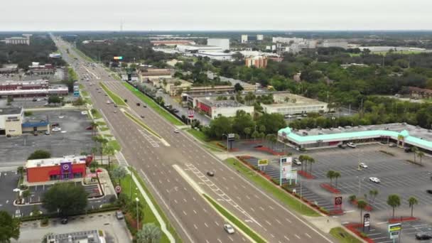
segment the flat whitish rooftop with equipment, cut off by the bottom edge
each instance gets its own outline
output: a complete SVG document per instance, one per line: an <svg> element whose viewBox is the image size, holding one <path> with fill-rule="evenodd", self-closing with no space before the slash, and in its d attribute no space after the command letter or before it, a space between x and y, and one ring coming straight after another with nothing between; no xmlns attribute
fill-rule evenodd
<svg viewBox="0 0 432 243"><path fill-rule="evenodd" d="M102 240L96 229L66 234L48 235L47 243L99 243Z"/></svg>

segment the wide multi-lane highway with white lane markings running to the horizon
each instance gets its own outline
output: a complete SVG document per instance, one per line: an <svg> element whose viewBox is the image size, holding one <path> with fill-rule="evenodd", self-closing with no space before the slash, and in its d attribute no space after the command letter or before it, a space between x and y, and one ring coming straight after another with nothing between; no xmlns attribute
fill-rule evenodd
<svg viewBox="0 0 432 243"><path fill-rule="evenodd" d="M196 185L214 198L229 211L243 220L268 242L332 242L328 234L320 232L303 218L290 212L279 202L263 193L237 172L212 156L187 134L174 133L175 127L169 124L150 108L144 108L124 85L109 76L99 65L90 68L85 60L75 53L68 43L55 38L63 53L63 58L70 63L80 77L88 75L90 81L82 81L90 92L93 105L104 116L115 137L122 146L121 152L131 166L150 185L156 200L166 211L171 222L178 229L185 242L248 242L238 232L227 234L222 225L224 220L202 198L200 193L178 173L174 166L185 171ZM70 49L78 60L72 60L65 48ZM152 136L127 118L120 108L107 104L104 92L99 92L98 82L103 82L109 90L127 99L126 112L135 114L153 131L156 131L166 143ZM97 90L99 89L99 90ZM114 113L114 110L117 112ZM208 178L205 173L215 171L215 176Z"/></svg>

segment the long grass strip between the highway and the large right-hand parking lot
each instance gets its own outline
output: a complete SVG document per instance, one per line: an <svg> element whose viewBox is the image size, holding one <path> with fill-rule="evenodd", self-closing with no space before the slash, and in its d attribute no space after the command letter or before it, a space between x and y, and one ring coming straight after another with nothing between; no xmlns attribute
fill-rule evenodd
<svg viewBox="0 0 432 243"><path fill-rule="evenodd" d="M225 160L225 162L236 171L239 171L239 173L242 173L242 175L251 180L252 183L258 185L266 193L269 193L275 198L279 199L279 201L286 205L288 209L296 210L296 212L300 213L301 215L312 217L320 216L318 212L315 212L315 210L311 209L310 207L303 205L302 202L298 201L296 198L293 198L291 195L288 195L288 193L285 193L283 190L271 183L271 181L261 177L260 175L257 175L257 173L245 166L241 161L238 161L235 158L228 158Z"/></svg>

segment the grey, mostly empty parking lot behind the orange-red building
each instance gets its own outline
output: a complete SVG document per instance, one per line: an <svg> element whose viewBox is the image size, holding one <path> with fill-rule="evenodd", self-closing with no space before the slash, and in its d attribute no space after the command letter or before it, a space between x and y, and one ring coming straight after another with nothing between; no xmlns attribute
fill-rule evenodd
<svg viewBox="0 0 432 243"><path fill-rule="evenodd" d="M52 110L33 112L35 116L48 117L51 124L58 123L62 131L51 132L50 135L33 136L24 134L7 138L0 137L0 166L2 162L25 163L28 156L37 149L50 151L52 157L68 154L90 153L92 146L92 131L90 119L79 110ZM13 151L13 153L11 153Z"/></svg>

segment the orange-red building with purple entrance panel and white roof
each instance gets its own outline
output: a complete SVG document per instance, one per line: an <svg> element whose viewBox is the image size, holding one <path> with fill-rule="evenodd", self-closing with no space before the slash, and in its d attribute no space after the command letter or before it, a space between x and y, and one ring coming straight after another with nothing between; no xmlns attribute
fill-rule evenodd
<svg viewBox="0 0 432 243"><path fill-rule="evenodd" d="M91 156L63 156L63 158L28 160L26 178L28 183L85 178L86 168L91 162Z"/></svg>

